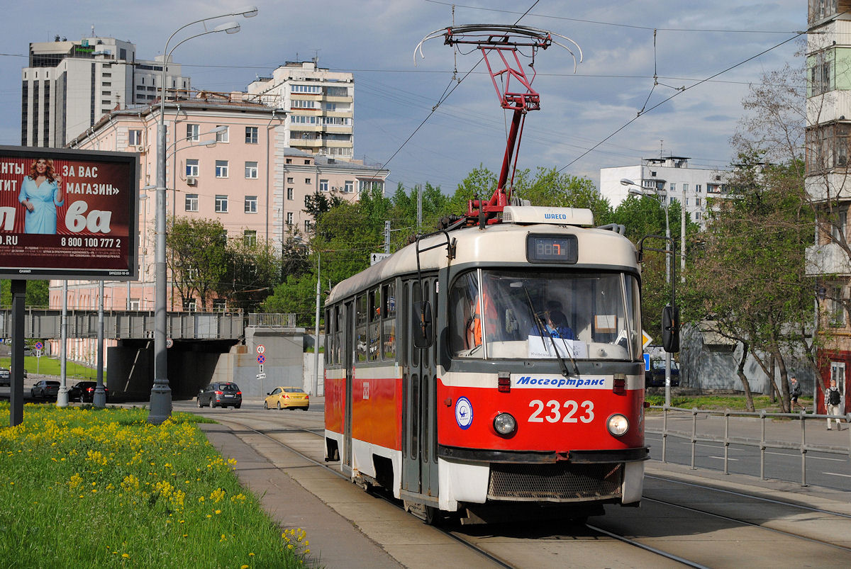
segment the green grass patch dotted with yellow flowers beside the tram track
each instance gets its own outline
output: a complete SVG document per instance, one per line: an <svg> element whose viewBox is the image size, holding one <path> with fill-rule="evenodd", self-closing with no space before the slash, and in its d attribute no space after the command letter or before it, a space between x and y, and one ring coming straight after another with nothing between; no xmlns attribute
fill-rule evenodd
<svg viewBox="0 0 851 569"><path fill-rule="evenodd" d="M271 521L200 418L147 414L27 404L23 424L0 427L3 566L304 565L305 532Z"/></svg>

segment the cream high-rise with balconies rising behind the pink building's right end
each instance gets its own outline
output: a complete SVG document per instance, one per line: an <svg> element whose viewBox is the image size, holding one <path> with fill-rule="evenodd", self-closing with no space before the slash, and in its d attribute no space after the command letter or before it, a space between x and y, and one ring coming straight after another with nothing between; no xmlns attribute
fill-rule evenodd
<svg viewBox="0 0 851 569"><path fill-rule="evenodd" d="M288 112L288 145L300 151L351 160L354 149L355 80L314 61L287 62L271 77L248 85L248 100Z"/></svg>

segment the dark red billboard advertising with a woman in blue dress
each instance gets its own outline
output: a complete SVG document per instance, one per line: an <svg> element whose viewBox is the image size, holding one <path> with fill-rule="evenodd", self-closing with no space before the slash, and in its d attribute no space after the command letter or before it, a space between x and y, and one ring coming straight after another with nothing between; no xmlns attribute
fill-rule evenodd
<svg viewBox="0 0 851 569"><path fill-rule="evenodd" d="M0 277L139 277L139 157L0 146Z"/></svg>

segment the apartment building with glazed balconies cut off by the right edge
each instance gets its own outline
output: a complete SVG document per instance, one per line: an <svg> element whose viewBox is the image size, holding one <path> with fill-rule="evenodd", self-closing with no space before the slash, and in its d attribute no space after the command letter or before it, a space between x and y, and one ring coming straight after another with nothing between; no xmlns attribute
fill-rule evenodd
<svg viewBox="0 0 851 569"><path fill-rule="evenodd" d="M836 379L842 393L851 387L851 298L848 208L851 206L851 0L808 0L807 133L805 185L820 208L816 243L807 250L808 274L821 277L820 317L825 347L822 382L815 401L825 413L825 384ZM851 406L843 399L847 413Z"/></svg>

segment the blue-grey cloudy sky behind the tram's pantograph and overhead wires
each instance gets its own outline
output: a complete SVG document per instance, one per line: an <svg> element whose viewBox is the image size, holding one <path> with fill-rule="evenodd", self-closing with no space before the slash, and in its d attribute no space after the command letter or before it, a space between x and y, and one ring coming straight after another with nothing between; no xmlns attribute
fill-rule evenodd
<svg viewBox="0 0 851 569"><path fill-rule="evenodd" d="M355 156L385 163L390 185L431 182L451 193L471 168L498 171L505 124L488 75L477 69L407 143L443 92L479 60L454 54L433 40L414 66L414 47L431 31L453 23L450 3L429 0L248 0L260 14L239 19L242 31L193 39L174 52L193 88L244 90L285 61L318 57L319 65L355 76ZM191 20L243 8L214 0L146 3L114 0L44 0L37 12L25 3L4 9L0 47L0 144L20 144L20 70L30 42L95 35L137 45L153 59L171 33ZM519 150L521 168L564 168L597 183L599 168L635 164L673 153L692 165L723 167L730 136L742 116L748 83L795 57L800 41L785 43L714 80L677 94L643 114L596 150L591 147L672 94L751 58L806 29L807 0L713 3L682 0L566 2L506 0L456 4L458 24L511 24L520 20L579 43L585 53L576 74L569 54L540 52L535 63L541 110L529 113ZM224 19L222 21L226 21ZM656 29L654 49L654 29ZM195 28L190 28L195 30ZM202 30L198 27L197 30ZM654 55L655 54L655 55ZM654 70L658 85L654 87ZM652 89L652 93L651 93ZM648 97L649 95L649 97ZM401 148L401 150L400 150ZM398 152L397 152L398 151Z"/></svg>

